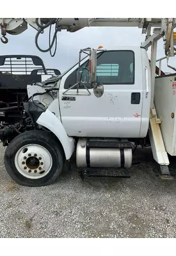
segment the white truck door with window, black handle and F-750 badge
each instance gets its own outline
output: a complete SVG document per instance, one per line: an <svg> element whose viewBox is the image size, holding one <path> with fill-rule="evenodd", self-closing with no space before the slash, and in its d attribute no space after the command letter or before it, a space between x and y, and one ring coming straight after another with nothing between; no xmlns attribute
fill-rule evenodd
<svg viewBox="0 0 176 256"><path fill-rule="evenodd" d="M90 84L77 83L78 67L63 76L60 84L61 122L68 136L138 138L143 104L140 47L134 51L104 51L97 54L97 81L104 84L98 98ZM81 81L88 81L89 60L81 65ZM63 95L64 92L66 92Z"/></svg>

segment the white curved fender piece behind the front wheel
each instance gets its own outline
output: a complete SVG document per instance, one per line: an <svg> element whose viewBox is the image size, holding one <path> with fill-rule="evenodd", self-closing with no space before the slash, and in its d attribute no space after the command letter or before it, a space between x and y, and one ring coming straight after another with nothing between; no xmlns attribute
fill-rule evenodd
<svg viewBox="0 0 176 256"><path fill-rule="evenodd" d="M58 140L60 140L65 152L66 159L70 159L74 152L74 139L72 137L68 137L67 132L58 117L47 109L39 116L36 123L46 127L58 137Z"/></svg>

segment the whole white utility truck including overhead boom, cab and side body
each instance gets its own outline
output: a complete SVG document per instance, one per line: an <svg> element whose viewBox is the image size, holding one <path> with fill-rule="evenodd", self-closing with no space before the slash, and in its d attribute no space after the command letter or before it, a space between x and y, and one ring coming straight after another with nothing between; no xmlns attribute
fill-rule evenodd
<svg viewBox="0 0 176 256"><path fill-rule="evenodd" d="M175 19L0 18L0 23L4 43L6 33L22 33L27 24L36 28L38 49L38 35L53 23L54 36L61 29L74 32L85 26L138 26L147 34L139 47L82 49L78 63L63 74L28 85L21 119L0 131L8 146L6 171L13 180L24 186L51 184L74 152L83 177L129 177L138 145L151 145L161 176L170 175L168 154L176 155L176 74L164 74L161 61L175 55ZM160 38L165 57L157 68ZM40 51L51 51L54 39Z"/></svg>

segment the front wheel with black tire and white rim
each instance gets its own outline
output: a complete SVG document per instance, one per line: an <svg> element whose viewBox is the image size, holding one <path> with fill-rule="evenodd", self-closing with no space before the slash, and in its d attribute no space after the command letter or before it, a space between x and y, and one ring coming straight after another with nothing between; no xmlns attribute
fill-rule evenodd
<svg viewBox="0 0 176 256"><path fill-rule="evenodd" d="M65 154L54 134L28 131L15 137L6 148L4 164L8 175L29 187L52 184L61 174Z"/></svg>

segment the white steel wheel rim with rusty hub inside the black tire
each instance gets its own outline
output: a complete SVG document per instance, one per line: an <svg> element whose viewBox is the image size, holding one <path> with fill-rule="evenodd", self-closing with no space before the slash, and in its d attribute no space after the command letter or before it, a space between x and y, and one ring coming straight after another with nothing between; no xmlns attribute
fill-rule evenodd
<svg viewBox="0 0 176 256"><path fill-rule="evenodd" d="M24 177L40 179L51 170L52 157L40 145L26 145L17 152L15 166Z"/></svg>

